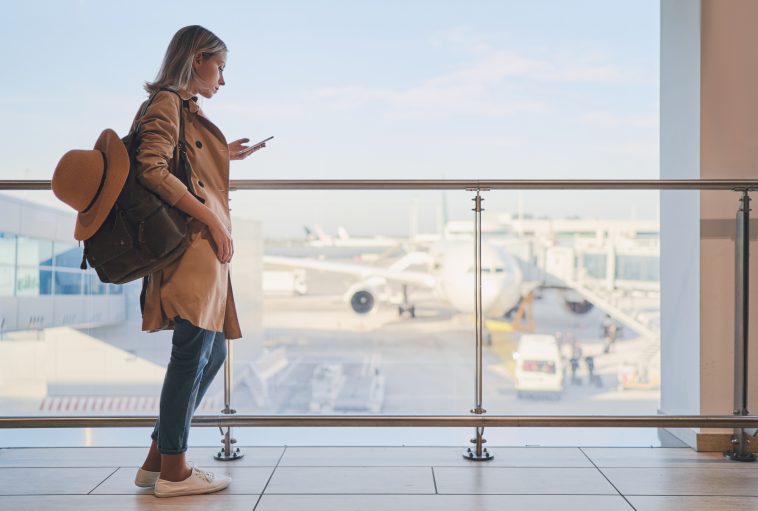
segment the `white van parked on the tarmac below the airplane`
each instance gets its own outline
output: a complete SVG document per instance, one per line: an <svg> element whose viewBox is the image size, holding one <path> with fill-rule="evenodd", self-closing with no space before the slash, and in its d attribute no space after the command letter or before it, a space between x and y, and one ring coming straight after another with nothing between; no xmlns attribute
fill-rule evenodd
<svg viewBox="0 0 758 511"><path fill-rule="evenodd" d="M565 364L555 337L522 335L513 358L516 360L518 397L528 394L561 397Z"/></svg>

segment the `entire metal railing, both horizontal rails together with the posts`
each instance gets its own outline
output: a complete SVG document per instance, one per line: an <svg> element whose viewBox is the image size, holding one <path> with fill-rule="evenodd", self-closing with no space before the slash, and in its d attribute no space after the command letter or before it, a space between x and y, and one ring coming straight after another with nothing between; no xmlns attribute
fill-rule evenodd
<svg viewBox="0 0 758 511"><path fill-rule="evenodd" d="M49 190L49 180L0 180L0 190ZM477 192L486 190L730 190L742 192L745 199L742 222L743 231L748 231L749 198L747 194L758 190L758 181L743 179L698 179L698 180L232 180L231 190L420 190L420 189L449 189L449 190L472 190ZM476 241L481 239L481 210L475 209L476 214ZM739 234L739 233L738 233ZM744 232L743 232L744 237ZM742 247L744 262L741 271L742 279L739 278L737 285L744 289L745 300L741 309L736 311L736 319L744 323L743 328L736 336L737 343L742 342L747 347L747 238L738 236L738 246ZM738 254L740 251L738 250ZM480 257L477 252L477 257ZM479 283L479 280L477 280ZM739 296L740 295L738 293ZM740 307L738 307L739 309ZM477 307L478 314L481 313ZM481 359L481 324L477 326L477 361ZM746 352L746 350L745 350ZM737 357L739 358L739 357ZM735 388L744 390L741 402L746 403L747 381L747 357L744 360L736 360L736 364L744 364L745 371L735 377ZM227 365L229 360L227 360ZM477 365L477 378L481 379L479 365ZM738 400L738 392L735 391L735 402ZM227 400L228 401L228 400ZM227 405L228 408L228 405ZM230 411L230 410L229 410ZM729 427L735 428L733 444L735 447L730 451L733 459L752 460L752 454L747 452L744 428L758 426L758 417L748 415L746 405L735 410L732 416L484 416L481 408L481 396L477 387L477 405L472 410L476 415L471 416L251 416L251 415L226 415L226 416L198 416L192 421L196 426L321 426L321 427L345 427L345 426L437 426L437 427L464 427L475 426L476 456L468 449L465 457L469 459L489 460L492 456L484 452L482 448L485 440L482 432L488 427ZM11 427L149 427L154 424L155 417L0 417L0 428ZM226 433L226 447L230 444L230 431ZM474 440L472 440L474 442ZM230 459L228 449L225 458Z"/></svg>

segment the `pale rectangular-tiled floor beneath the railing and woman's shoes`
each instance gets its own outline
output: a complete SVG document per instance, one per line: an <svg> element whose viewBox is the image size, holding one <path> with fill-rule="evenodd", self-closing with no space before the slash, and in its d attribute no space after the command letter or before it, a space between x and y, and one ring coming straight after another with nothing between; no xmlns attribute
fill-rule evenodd
<svg viewBox="0 0 758 511"><path fill-rule="evenodd" d="M247 447L203 468L231 475L215 495L158 499L133 485L135 448L0 449L0 510L758 511L758 463L686 448Z"/></svg>

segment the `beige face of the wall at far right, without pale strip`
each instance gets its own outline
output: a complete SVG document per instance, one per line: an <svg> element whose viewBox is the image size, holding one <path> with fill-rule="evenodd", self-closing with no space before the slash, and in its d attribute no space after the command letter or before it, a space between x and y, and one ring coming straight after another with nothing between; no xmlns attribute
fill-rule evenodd
<svg viewBox="0 0 758 511"><path fill-rule="evenodd" d="M701 179L758 178L758 2L701 3ZM702 414L732 412L734 393L734 233L739 194L700 199ZM755 201L754 201L755 202ZM753 209L758 207L754 203ZM756 215L751 215L756 218ZM755 243L751 251L756 252ZM750 373L758 374L758 269L751 264ZM758 412L758 377L749 409Z"/></svg>

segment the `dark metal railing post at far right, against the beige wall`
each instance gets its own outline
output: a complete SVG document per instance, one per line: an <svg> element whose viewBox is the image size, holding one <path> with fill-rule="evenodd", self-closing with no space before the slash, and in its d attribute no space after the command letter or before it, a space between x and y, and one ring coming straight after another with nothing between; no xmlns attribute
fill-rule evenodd
<svg viewBox="0 0 758 511"><path fill-rule="evenodd" d="M743 190L737 212L734 279L734 415L750 415L747 410L748 382L748 299L750 285L750 195ZM735 461L755 461L743 428L735 428L732 447L725 455Z"/></svg>

